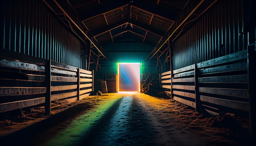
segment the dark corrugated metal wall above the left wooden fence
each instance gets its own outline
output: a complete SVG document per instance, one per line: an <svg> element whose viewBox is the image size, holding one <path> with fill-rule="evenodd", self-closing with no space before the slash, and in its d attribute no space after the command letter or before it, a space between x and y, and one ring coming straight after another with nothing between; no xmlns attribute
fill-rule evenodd
<svg viewBox="0 0 256 146"><path fill-rule="evenodd" d="M0 35L2 49L82 66L80 41L41 0L2 0Z"/></svg>

